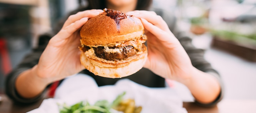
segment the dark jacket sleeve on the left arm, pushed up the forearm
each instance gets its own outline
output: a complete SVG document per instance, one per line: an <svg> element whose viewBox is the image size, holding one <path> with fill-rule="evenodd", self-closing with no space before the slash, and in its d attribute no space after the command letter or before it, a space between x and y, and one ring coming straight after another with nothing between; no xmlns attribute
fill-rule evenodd
<svg viewBox="0 0 256 113"><path fill-rule="evenodd" d="M17 67L15 67L6 77L5 79L5 93L15 102L19 102L19 103L33 103L38 101L39 99L42 98L42 94L38 95L35 98L31 98L31 99L26 99L26 98L22 98L16 91L15 88L15 81L16 78L18 77L18 75L20 73L22 73L23 71L32 68L33 66L35 66L38 61L39 58L41 56L41 54L43 53L47 43L49 42L51 36L50 35L41 35L39 37L39 44L38 47L36 47L35 49L33 49L28 55L26 55L22 62L19 63L17 65Z"/></svg>

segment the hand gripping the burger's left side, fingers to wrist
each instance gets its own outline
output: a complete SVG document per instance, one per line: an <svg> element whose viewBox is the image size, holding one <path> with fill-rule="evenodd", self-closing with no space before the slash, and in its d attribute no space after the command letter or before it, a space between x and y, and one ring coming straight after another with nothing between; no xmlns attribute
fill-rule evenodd
<svg viewBox="0 0 256 113"><path fill-rule="evenodd" d="M68 17L62 29L47 45L38 62L36 73L51 83L78 73L84 67L80 63L79 29L88 18L95 17L103 10L86 10Z"/></svg>

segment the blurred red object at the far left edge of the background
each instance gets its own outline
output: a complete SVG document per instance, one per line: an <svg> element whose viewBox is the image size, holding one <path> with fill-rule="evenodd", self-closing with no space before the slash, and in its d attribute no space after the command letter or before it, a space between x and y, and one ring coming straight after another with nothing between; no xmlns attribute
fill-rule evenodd
<svg viewBox="0 0 256 113"><path fill-rule="evenodd" d="M12 70L11 61L7 50L5 39L0 38L0 57L2 59L1 67L4 75L8 74Z"/></svg>

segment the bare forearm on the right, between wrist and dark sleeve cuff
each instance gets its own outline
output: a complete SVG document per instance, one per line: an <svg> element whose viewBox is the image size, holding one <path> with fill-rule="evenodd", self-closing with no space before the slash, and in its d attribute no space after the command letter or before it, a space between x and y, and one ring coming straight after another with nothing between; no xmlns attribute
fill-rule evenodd
<svg viewBox="0 0 256 113"><path fill-rule="evenodd" d="M191 77L182 82L189 88L194 98L204 104L213 102L221 91L216 77L196 68L192 69Z"/></svg>

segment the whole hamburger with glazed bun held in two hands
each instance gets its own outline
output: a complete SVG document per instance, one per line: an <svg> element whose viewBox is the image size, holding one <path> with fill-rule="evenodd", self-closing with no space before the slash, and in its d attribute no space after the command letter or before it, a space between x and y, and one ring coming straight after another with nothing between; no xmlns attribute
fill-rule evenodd
<svg viewBox="0 0 256 113"><path fill-rule="evenodd" d="M80 30L81 64L95 75L121 78L139 71L147 59L140 19L104 9Z"/></svg>

